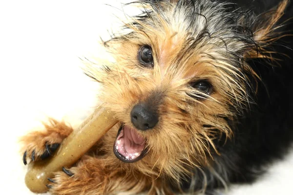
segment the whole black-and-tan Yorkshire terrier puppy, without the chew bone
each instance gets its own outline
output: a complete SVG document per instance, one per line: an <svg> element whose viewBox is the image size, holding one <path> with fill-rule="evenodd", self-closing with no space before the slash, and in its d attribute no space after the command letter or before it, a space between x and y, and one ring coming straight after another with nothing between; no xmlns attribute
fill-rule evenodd
<svg viewBox="0 0 293 195"><path fill-rule="evenodd" d="M293 140L289 0L138 0L115 62L87 62L118 125L56 195L216 194L253 182ZM23 162L50 156L72 128L51 120L23 137Z"/></svg>

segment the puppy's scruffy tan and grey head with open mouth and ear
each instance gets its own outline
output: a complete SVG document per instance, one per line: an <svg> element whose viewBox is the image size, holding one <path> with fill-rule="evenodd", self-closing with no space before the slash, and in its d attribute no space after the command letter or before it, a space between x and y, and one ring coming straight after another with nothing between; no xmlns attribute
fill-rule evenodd
<svg viewBox="0 0 293 195"><path fill-rule="evenodd" d="M105 42L115 63L86 69L120 121L117 157L174 178L209 163L214 140L232 137L229 121L252 101L247 61L268 57L286 3L256 17L211 0L138 2L131 32Z"/></svg>

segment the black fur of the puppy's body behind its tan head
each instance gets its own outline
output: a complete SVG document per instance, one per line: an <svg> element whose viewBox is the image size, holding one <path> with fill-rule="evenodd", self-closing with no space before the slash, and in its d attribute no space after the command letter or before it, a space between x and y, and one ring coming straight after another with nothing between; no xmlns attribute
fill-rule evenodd
<svg viewBox="0 0 293 195"><path fill-rule="evenodd" d="M228 7L229 11L241 8L250 9L256 15L266 12L276 6L280 0L234 0L234 6ZM285 15L279 23L293 17L293 3L285 10ZM284 34L293 34L293 24L286 22L278 31ZM274 160L282 159L291 149L293 141L293 42L290 36L278 40L272 50L279 53L274 57L281 59L280 65L268 65L268 60L253 60L251 67L261 76L262 82L258 83L256 104L239 118L234 126L234 138L224 144L217 140L215 144L221 156L214 155L216 164L213 169L227 183L251 183L265 172L264 166ZM253 96L251 94L251 96ZM223 182L209 173L208 169L202 172L194 170L193 178L182 178L182 188L186 191L200 190L206 179L208 183L207 194L216 194L214 189L222 188ZM204 178L204 175L207 177ZM192 185L191 185L192 183ZM174 189L176 191L176 189Z"/></svg>

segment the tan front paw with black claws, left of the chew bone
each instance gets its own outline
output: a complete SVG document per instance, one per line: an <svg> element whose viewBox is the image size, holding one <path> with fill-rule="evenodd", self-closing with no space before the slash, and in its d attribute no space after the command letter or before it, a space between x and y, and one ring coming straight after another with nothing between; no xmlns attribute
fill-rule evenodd
<svg viewBox="0 0 293 195"><path fill-rule="evenodd" d="M49 122L44 124L44 130L30 132L21 138L24 164L27 164L28 159L37 161L49 157L72 132L72 128L64 122L54 119L50 119Z"/></svg>

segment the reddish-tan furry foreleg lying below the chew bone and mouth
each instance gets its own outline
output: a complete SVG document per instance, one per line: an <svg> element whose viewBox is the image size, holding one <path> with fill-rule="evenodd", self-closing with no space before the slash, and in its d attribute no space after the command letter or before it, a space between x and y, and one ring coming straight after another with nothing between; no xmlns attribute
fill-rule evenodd
<svg viewBox="0 0 293 195"><path fill-rule="evenodd" d="M111 162L112 161L112 162ZM114 160L115 161L115 160ZM113 159L84 155L76 167L63 168L48 184L53 195L172 195L159 178L140 172L126 173Z"/></svg>

